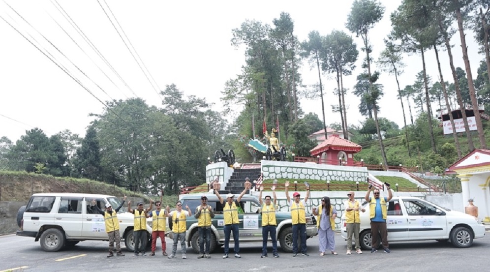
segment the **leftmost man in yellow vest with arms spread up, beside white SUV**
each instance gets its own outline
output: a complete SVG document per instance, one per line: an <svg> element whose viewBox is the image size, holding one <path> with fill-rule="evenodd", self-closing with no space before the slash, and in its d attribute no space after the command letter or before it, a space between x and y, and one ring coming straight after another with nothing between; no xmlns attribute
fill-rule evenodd
<svg viewBox="0 0 490 272"><path fill-rule="evenodd" d="M92 210L95 210L97 213L101 214L104 216L104 222L105 222L105 232L107 233L107 236L109 237L109 255L107 255L107 258L113 257L114 256L114 241L116 241L116 255L117 256L124 256L121 252L121 236L119 234L119 220L118 220L118 212L122 208L122 205L124 205L124 201L126 201L126 196L124 196L124 199L121 202L121 205L119 205L118 208L115 210L112 209L112 206L110 203L105 204L105 211L100 210L100 208L97 206L97 202L95 200L92 200L92 206L90 207Z"/></svg>

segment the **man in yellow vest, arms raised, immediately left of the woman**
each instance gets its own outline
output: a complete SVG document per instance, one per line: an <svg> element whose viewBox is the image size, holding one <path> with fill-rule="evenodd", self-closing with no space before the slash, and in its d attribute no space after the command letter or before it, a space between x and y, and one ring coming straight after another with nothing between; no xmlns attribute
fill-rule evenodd
<svg viewBox="0 0 490 272"><path fill-rule="evenodd" d="M293 221L293 257L298 256L298 235L301 238L301 255L309 256L306 252L306 201L308 200L309 186L306 186L306 196L302 201L300 199L300 193L294 192L293 198L291 200L289 197L289 181L284 183L286 187L286 198L289 203L289 207L291 207L291 217Z"/></svg>

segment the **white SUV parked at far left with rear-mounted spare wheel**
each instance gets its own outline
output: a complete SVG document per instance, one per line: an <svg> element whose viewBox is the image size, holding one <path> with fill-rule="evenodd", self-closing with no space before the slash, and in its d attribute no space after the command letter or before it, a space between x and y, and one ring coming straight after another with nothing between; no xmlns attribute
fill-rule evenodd
<svg viewBox="0 0 490 272"><path fill-rule="evenodd" d="M90 208L92 200L102 210L106 203L116 209L121 201L115 196L76 193L33 194L29 203L19 210L23 218L18 236L34 237L45 251L58 251L85 240L108 241L104 217ZM25 209L25 211L23 211ZM22 214L23 213L23 214ZM118 213L120 234L127 250L134 251L134 215L124 208ZM151 223L151 218L149 218ZM147 225L151 239L152 228Z"/></svg>

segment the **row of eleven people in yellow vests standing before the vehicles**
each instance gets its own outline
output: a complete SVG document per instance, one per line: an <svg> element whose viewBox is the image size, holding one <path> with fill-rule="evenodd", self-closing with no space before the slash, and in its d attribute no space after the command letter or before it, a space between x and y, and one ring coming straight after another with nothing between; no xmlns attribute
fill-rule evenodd
<svg viewBox="0 0 490 272"><path fill-rule="evenodd" d="M302 200L299 192L293 193L293 199L289 196L289 181L285 184L285 194L287 202L289 203L292 219L292 240L293 240L293 257L298 256L299 251L303 256L309 256L306 248L306 201L309 195L309 184L306 183L306 196ZM229 242L231 233L233 232L234 241L234 256L235 258L241 258L240 256L240 241L239 241L239 216L240 210L240 200L245 195L245 193L251 188L251 183L249 181L245 182L245 188L242 193L234 200L234 194L227 194L226 201L221 197L218 190L214 188L214 194L217 196L220 204L223 206L223 232L225 236L224 241L224 255L223 259L228 258L229 254ZM262 206L262 255L261 258L268 256L267 252L267 242L269 236L272 240L273 246L273 256L278 258L277 253L277 239L276 239L276 185L272 186L273 198L270 195L265 196L262 199L262 191L264 187L260 186L259 202ZM383 251L390 253L388 248L388 233L386 228L386 216L387 208L386 203L393 197L392 191L389 186L388 197L380 197L379 189L372 189L369 186L368 191L365 196L365 200L369 202L369 218L372 233L371 242L371 253L377 252L379 245L379 238L383 245ZM373 191L373 197L370 197L370 192ZM347 230L347 252L346 254L352 254L352 237L354 237L355 252L362 254L359 241L360 232L360 213L365 212L361 203L354 198L355 193L350 191L347 193L348 199L344 202L345 207L345 220L346 220L346 230ZM107 257L114 256L114 242L116 242L117 256L124 256L121 252L120 246L120 235L119 235L119 221L117 219L117 212L121 209L122 205L126 200L122 201L120 207L115 210L112 209L111 204L106 204L105 211L98 208L95 201L92 201L92 209L104 216L105 228L109 237L109 255ZM211 258L210 255L210 244L211 244L211 229L212 229L212 218L214 218L213 208L207 203L208 198L206 195L201 197L201 205L196 207L194 212L195 218L198 219L198 233L199 233L199 254L198 259L201 258ZM133 240L134 240L134 254L133 256L138 256L139 254L146 256L146 218L152 217L152 253L150 256L155 255L156 250L156 240L160 238L162 243L162 254L167 256L166 253L166 243L165 243L165 230L166 230L166 218L172 218L172 231L173 231L173 246L172 253L168 258L176 258L177 244L181 242L181 252L182 258L186 259L186 246L185 246L185 233L186 218L187 216L192 216L192 212L188 206L185 206L186 211L182 209L182 202L178 201L176 203L176 210L170 212L169 206L165 210L161 209L161 200L154 203L156 209L152 211L153 200L150 200L150 207L147 209L143 208L143 203L139 202L137 209L131 209L131 201L128 202L128 212L134 214L134 229L133 229ZM152 212L150 212L152 211ZM321 199L321 204L318 207L313 207L313 215L317 216L317 228L319 237L319 251L320 256L324 256L327 251L330 251L333 255L338 255L335 251L335 219L337 217L337 210L331 204L330 198L324 196ZM379 237L380 236L380 237ZM298 248L298 238L301 241L301 247Z"/></svg>

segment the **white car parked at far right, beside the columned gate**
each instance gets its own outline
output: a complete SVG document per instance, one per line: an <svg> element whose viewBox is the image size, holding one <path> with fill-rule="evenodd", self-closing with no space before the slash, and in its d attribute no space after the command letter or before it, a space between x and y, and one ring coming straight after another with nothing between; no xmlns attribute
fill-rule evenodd
<svg viewBox="0 0 490 272"><path fill-rule="evenodd" d="M360 243L371 248L369 203L361 212ZM387 203L388 241L437 240L451 242L456 247L470 247L473 239L485 236L485 226L476 217L451 211L417 197L393 197ZM341 222L342 238L347 239L345 215Z"/></svg>

